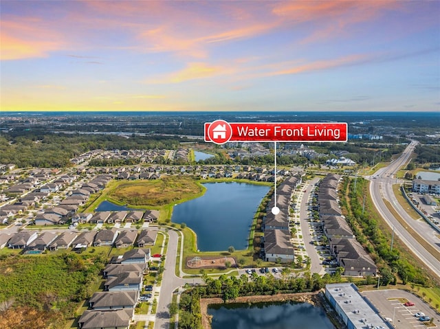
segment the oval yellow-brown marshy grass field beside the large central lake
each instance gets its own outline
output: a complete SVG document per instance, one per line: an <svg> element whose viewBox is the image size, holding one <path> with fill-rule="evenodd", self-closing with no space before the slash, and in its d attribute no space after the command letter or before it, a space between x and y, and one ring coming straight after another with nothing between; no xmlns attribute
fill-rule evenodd
<svg viewBox="0 0 440 329"><path fill-rule="evenodd" d="M108 196L129 205L162 206L196 198L206 189L192 177L164 177L156 181L123 181Z"/></svg>

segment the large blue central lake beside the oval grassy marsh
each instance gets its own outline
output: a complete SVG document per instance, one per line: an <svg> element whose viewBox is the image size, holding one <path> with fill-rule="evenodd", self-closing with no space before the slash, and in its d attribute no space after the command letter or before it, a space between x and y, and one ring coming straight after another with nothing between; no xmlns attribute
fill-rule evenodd
<svg viewBox="0 0 440 329"><path fill-rule="evenodd" d="M171 220L197 234L200 251L248 247L252 219L270 187L247 183L204 183L203 196L175 205Z"/></svg>

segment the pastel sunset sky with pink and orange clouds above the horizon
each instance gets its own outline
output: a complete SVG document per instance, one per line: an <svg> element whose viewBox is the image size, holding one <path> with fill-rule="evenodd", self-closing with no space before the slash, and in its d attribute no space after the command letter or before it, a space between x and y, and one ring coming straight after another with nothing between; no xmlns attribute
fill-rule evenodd
<svg viewBox="0 0 440 329"><path fill-rule="evenodd" d="M0 7L0 111L440 111L440 1Z"/></svg>

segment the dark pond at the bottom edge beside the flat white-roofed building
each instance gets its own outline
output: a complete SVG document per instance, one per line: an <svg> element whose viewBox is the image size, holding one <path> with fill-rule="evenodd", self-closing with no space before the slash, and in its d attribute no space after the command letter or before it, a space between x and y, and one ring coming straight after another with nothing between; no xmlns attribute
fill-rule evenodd
<svg viewBox="0 0 440 329"><path fill-rule="evenodd" d="M322 308L308 303L219 304L208 314L212 329L335 329Z"/></svg>

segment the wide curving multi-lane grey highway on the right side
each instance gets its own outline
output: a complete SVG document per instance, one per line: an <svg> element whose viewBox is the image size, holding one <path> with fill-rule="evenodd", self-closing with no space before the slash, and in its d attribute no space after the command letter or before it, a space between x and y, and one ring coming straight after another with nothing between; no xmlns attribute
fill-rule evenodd
<svg viewBox="0 0 440 329"><path fill-rule="evenodd" d="M402 242L404 242L410 250L415 253L415 256L423 262L423 264L431 269L438 277L440 277L440 260L432 256L424 247L422 247L419 242L403 227L399 221L391 214L391 212L386 207L384 199L389 201L391 205L396 209L396 211L401 215L406 221L406 224L419 235L424 238L431 245L439 249L440 239L434 235L434 229L428 225L428 223L422 223L419 220L413 220L405 210L397 202L394 192L393 183L398 183L395 177L397 170L408 163L411 153L417 146L417 141L412 141L408 147L404 150L401 156L386 168L381 168L377 170L375 174L371 177L370 184L370 194L373 199L373 203L377 211L382 215L382 218L386 223L395 230L395 236L398 236ZM440 250L440 249L439 249Z"/></svg>

